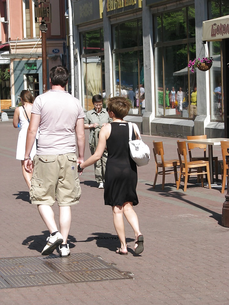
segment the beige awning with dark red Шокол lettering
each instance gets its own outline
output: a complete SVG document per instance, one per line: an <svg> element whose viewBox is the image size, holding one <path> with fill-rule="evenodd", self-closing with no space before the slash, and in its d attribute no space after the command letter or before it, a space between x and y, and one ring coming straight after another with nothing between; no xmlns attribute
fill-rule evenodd
<svg viewBox="0 0 229 305"><path fill-rule="evenodd" d="M229 38L229 15L203 22L202 41L221 41Z"/></svg>

